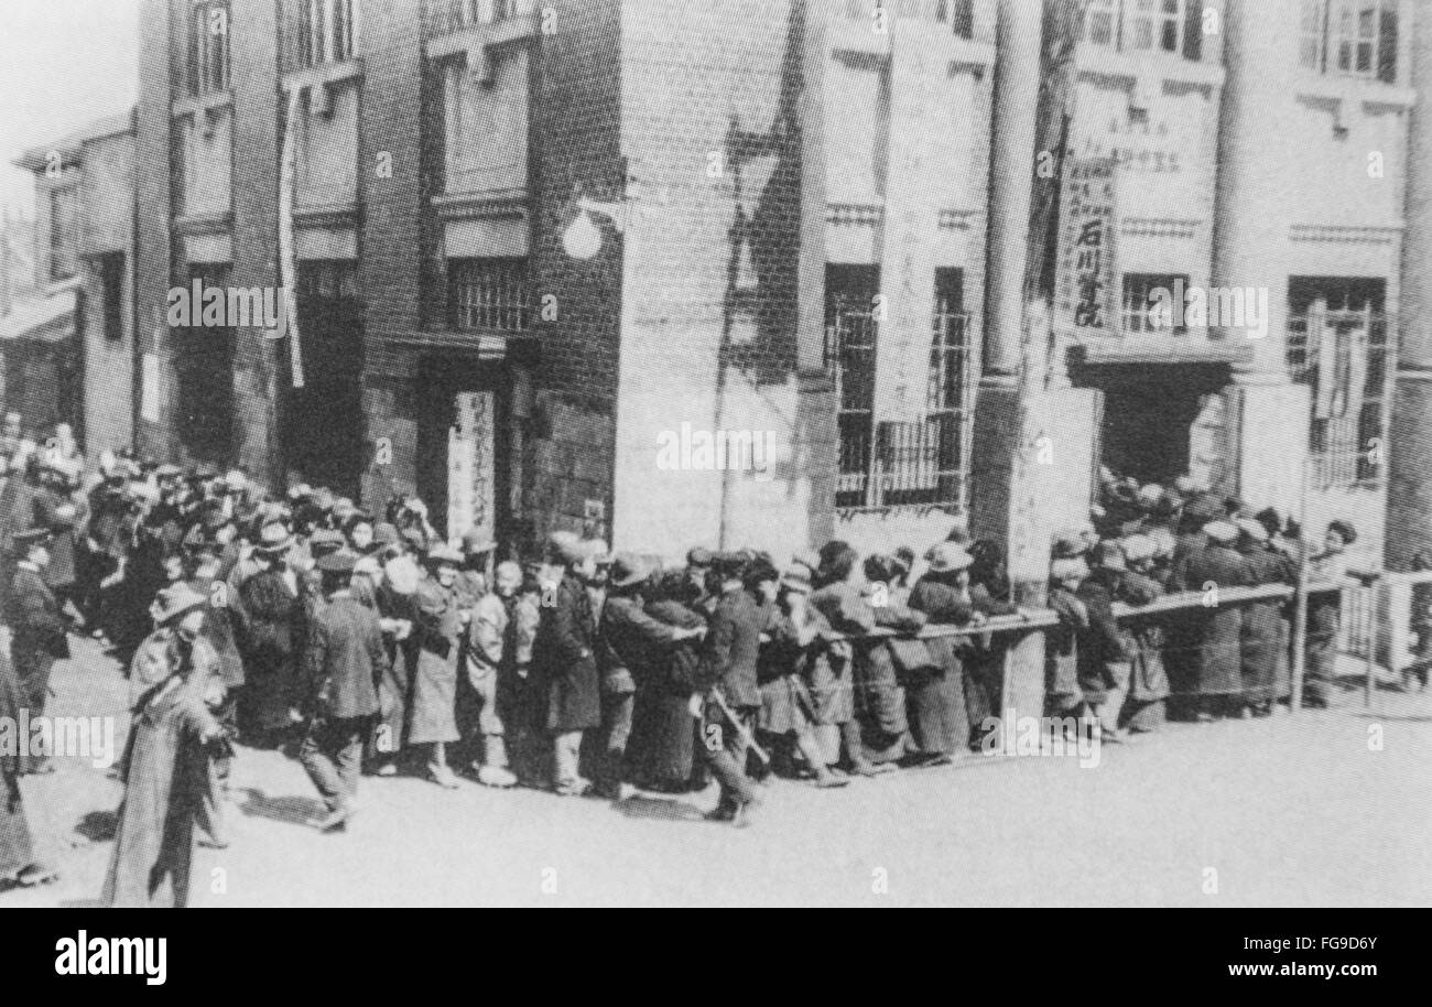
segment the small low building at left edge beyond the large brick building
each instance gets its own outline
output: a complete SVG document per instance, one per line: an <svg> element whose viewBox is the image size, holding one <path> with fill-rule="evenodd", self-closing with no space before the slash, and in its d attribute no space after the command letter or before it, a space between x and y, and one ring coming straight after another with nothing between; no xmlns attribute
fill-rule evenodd
<svg viewBox="0 0 1432 1007"><path fill-rule="evenodd" d="M33 435L67 423L93 451L129 445L135 117L96 120L14 163L34 173L36 297L0 319L0 400Z"/></svg>

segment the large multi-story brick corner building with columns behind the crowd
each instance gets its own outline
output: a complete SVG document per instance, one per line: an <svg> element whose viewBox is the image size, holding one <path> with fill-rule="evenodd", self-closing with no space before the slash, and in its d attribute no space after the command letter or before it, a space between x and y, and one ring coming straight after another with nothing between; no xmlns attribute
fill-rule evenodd
<svg viewBox="0 0 1432 1007"><path fill-rule="evenodd" d="M147 0L137 437L453 533L1002 534L1053 6ZM1087 6L1064 146L1111 166L1113 311L1055 312L1035 539L1103 461L1306 484L1380 549L1412 13ZM296 338L169 327L193 279L288 284ZM1257 332L1150 309L1233 288Z"/></svg>

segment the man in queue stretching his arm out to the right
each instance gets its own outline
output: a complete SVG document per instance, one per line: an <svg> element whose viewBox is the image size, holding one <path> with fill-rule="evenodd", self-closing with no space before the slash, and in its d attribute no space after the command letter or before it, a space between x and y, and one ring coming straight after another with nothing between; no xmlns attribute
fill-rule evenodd
<svg viewBox="0 0 1432 1007"><path fill-rule="evenodd" d="M646 613L650 579L652 570L640 556L620 553L613 557L599 622L601 763L594 788L613 801L626 795L626 755L637 682L659 675L669 653L683 640L702 636L700 629L670 626Z"/></svg>

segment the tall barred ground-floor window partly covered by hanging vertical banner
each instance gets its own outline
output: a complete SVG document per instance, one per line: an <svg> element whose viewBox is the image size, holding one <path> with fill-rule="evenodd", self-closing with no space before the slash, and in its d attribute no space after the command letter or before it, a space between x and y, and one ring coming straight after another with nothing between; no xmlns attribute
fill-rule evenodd
<svg viewBox="0 0 1432 1007"><path fill-rule="evenodd" d="M839 401L836 507L965 506L977 347L959 309L961 271L937 271L928 411L919 423L875 415L878 268L832 265L826 278L826 367Z"/></svg>

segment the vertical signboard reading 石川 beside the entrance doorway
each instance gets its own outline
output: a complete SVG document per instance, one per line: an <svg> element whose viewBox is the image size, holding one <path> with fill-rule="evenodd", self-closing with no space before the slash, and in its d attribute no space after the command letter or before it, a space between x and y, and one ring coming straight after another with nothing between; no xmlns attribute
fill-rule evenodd
<svg viewBox="0 0 1432 1007"><path fill-rule="evenodd" d="M1070 158L1064 166L1054 285L1058 338L1078 342L1120 334L1117 178L1113 158Z"/></svg>

